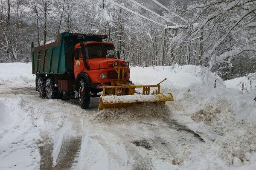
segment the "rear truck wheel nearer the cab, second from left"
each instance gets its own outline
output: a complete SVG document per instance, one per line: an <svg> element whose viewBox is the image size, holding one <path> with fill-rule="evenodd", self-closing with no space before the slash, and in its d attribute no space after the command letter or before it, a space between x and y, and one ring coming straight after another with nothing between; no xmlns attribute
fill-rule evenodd
<svg viewBox="0 0 256 170"><path fill-rule="evenodd" d="M54 86L54 79L48 78L46 80L45 93L47 99L56 99L58 97L58 88Z"/></svg>

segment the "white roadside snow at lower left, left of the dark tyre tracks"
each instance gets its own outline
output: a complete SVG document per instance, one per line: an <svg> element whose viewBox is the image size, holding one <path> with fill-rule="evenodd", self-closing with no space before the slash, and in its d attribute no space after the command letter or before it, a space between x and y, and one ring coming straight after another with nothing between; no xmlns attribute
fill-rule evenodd
<svg viewBox="0 0 256 170"><path fill-rule="evenodd" d="M3 101L0 101L0 131L3 127L2 123L6 125L2 136L0 133L0 169L39 169L41 158L38 146L43 141L44 133L46 131L55 133L65 119L61 111L55 110L57 107L47 106L51 102L61 105L61 102L58 100L38 102L33 98L3 96L0 96L0 100Z"/></svg>

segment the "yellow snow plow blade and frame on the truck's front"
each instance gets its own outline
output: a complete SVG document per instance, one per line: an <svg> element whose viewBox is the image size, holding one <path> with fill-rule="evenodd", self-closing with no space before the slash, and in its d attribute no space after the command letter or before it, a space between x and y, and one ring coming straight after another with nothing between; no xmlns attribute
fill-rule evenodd
<svg viewBox="0 0 256 170"><path fill-rule="evenodd" d="M104 86L103 94L99 99L98 111L101 111L104 108L129 107L136 103L143 102L165 103L166 101L173 101L174 98L171 93L160 93L160 83L157 85L131 85L125 83L116 83L116 85ZM135 88L143 88L142 93L136 92ZM150 94L150 88L157 88L157 90Z"/></svg>

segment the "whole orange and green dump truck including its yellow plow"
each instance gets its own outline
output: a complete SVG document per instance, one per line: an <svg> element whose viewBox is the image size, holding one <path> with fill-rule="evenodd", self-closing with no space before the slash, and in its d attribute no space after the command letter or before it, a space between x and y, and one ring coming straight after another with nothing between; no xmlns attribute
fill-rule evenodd
<svg viewBox="0 0 256 170"><path fill-rule="evenodd" d="M88 108L90 97L100 97L99 111L174 100L172 94L160 93L161 82L134 85L130 81L129 63L120 59L113 43L103 42L106 38L64 32L58 34L57 41L46 45L34 47L32 42L32 73L36 75L38 96L61 99L63 93L76 93L83 109Z"/></svg>

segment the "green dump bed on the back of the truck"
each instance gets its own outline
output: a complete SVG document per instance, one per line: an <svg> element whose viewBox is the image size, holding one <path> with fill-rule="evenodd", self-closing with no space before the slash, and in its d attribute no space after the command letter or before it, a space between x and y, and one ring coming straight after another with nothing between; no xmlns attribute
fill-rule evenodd
<svg viewBox="0 0 256 170"><path fill-rule="evenodd" d="M33 74L65 74L73 73L73 52L79 40L78 35L84 35L84 41L102 41L105 35L78 34L64 32L58 35L58 40L46 45L33 47Z"/></svg>

